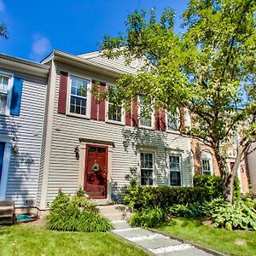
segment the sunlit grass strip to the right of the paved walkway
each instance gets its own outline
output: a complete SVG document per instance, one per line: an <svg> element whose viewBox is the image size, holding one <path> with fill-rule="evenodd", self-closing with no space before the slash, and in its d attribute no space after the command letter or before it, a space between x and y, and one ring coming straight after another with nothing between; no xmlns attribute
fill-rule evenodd
<svg viewBox="0 0 256 256"><path fill-rule="evenodd" d="M217 229L201 224L200 218L172 218L159 230L195 241L221 253L237 256L256 255L256 231Z"/></svg>

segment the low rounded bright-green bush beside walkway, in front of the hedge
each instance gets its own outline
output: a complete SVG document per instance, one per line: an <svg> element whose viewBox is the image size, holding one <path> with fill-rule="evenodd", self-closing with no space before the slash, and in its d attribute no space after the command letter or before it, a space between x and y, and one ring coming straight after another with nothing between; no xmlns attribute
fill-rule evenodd
<svg viewBox="0 0 256 256"><path fill-rule="evenodd" d="M165 212L160 207L143 209L134 212L131 217L131 226L143 228L155 228L166 219Z"/></svg>

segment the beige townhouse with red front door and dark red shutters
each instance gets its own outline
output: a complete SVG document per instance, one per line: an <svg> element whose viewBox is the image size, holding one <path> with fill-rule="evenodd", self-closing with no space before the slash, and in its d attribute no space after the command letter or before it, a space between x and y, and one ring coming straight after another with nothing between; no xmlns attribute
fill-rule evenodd
<svg viewBox="0 0 256 256"><path fill-rule="evenodd" d="M178 119L168 119L164 110L145 118L137 102L125 112L91 94L96 82L105 91L120 74L137 73L139 61L128 66L99 52L54 50L42 63L50 70L38 179L41 210L59 188L73 194L82 187L91 198L108 201L122 195L131 178L142 185L192 184L190 139L175 131Z"/></svg>

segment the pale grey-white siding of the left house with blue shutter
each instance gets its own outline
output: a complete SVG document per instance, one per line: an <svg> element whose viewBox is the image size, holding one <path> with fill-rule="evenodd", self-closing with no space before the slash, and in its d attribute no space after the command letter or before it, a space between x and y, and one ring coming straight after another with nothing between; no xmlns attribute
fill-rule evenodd
<svg viewBox="0 0 256 256"><path fill-rule="evenodd" d="M6 197L23 207L36 204L47 81L23 73L15 76L24 79L20 116L0 116L0 134L13 136L12 144L18 147L9 162Z"/></svg>

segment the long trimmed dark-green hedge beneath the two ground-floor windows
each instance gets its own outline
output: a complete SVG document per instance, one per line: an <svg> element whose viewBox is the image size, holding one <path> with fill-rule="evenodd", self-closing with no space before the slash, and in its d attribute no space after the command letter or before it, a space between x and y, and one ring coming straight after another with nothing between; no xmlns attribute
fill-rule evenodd
<svg viewBox="0 0 256 256"><path fill-rule="evenodd" d="M193 187L143 187L132 184L125 192L125 203L136 210L160 207L166 209L174 204L203 202L205 189Z"/></svg>

